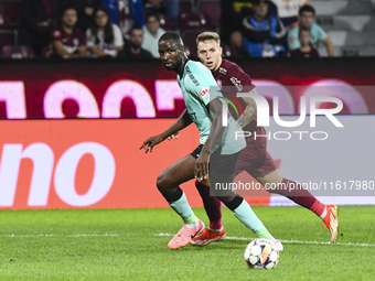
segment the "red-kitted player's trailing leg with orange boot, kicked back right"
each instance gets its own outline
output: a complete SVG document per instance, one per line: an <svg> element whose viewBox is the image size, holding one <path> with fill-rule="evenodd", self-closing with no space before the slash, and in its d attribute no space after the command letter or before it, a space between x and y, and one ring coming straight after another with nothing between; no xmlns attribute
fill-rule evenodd
<svg viewBox="0 0 375 281"><path fill-rule="evenodd" d="M268 154L267 159L269 161L271 156ZM304 190L301 184L282 177L278 170L274 170L264 174L258 174L256 179L264 186L274 184L272 186L275 188L268 188L268 192L286 196L296 204L306 207L317 214L323 220L324 227L331 233L331 241L334 242L338 239L338 206L324 205L308 190Z"/></svg>

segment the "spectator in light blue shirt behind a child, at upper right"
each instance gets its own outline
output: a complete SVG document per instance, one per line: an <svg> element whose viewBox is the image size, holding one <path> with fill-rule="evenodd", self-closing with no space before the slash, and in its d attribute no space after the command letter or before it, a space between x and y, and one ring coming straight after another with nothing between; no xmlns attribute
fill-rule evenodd
<svg viewBox="0 0 375 281"><path fill-rule="evenodd" d="M322 42L325 47L329 56L333 56L333 45L324 30L318 24L313 23L315 17L315 10L312 6L303 6L299 10L299 19L300 24L291 29L288 33L288 43L289 48L294 50L301 46L300 41L298 40L298 34L300 28L307 28L311 31L311 44L313 47L317 47L319 42Z"/></svg>

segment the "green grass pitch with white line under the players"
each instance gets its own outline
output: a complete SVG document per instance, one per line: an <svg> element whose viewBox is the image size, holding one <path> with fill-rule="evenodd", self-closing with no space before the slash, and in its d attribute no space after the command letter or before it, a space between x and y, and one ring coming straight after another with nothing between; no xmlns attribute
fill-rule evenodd
<svg viewBox="0 0 375 281"><path fill-rule="evenodd" d="M178 250L157 236L182 226L172 209L1 210L0 280L374 280L375 206L341 206L336 245L302 207L254 210L283 241L276 269L247 268L254 235L226 208L229 239Z"/></svg>

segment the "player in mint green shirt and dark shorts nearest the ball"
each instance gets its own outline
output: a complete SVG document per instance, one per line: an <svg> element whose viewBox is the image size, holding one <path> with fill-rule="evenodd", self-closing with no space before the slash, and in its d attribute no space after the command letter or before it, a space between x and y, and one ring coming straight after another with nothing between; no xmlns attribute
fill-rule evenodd
<svg viewBox="0 0 375 281"><path fill-rule="evenodd" d="M186 246L204 229L204 224L194 215L179 185L194 177L207 182L208 175L213 186L216 186L214 183L233 183L237 158L246 143L244 138L237 138L233 133L240 130L240 127L232 117L227 127L222 125L224 111L222 108L225 104L221 100L222 94L214 89L217 87L215 79L203 64L188 58L180 35L167 32L160 37L158 46L160 60L165 68L178 74L186 109L170 128L147 139L139 149L152 152L154 145L193 122L200 131L201 142L193 153L165 169L157 181L158 190L183 220L183 227L168 244L169 248L176 249ZM217 198L257 237L274 241L277 248L282 250L281 242L268 233L242 196L235 192L217 195L219 195Z"/></svg>

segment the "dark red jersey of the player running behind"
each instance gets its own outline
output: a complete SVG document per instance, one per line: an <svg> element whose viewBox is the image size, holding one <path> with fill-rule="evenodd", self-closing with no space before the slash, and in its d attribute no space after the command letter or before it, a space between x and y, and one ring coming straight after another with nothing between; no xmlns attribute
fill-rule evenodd
<svg viewBox="0 0 375 281"><path fill-rule="evenodd" d="M237 96L236 93L250 91L255 87L250 76L246 74L238 65L224 58L222 65L213 73L213 75L216 79L217 85L222 89L223 87L225 87L223 89L223 96L231 99L236 105L238 115L232 106L229 106L228 108L233 118L237 120L243 112L233 97ZM247 104L242 98L237 99L239 100L242 107L245 109ZM256 128L257 119L254 118L254 120L245 128L243 128L243 130L253 132L256 130Z"/></svg>

